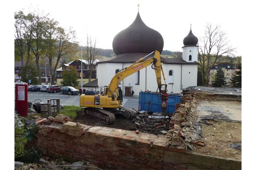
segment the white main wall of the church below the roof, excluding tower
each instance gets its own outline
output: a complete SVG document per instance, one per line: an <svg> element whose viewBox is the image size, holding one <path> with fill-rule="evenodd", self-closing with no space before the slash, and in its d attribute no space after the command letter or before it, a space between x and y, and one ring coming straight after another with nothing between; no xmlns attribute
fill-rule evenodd
<svg viewBox="0 0 256 170"><path fill-rule="evenodd" d="M115 75L116 69L122 69L129 66L132 63L101 63L97 65L97 78L98 78L98 86L108 85ZM196 86L197 85L197 65L189 65L183 64L182 65L182 83L181 83L181 64L163 64L163 70L166 78L166 84L168 92L179 93L182 88L186 88L188 86ZM172 70L173 72L173 85L169 83L169 71ZM146 75L147 72L147 75ZM190 72L190 73L189 73ZM156 82L156 75L155 70L151 68L151 65L147 66L147 69L144 68L140 70L140 84L136 85L136 74L131 74L124 78L123 81L120 82L119 85L122 90L123 94L125 94L125 87L131 87L134 91L134 95L138 96L140 91L149 90L152 92L156 92L157 90L157 82ZM162 76L162 83L164 83L164 78ZM172 88L171 88L172 87Z"/></svg>

